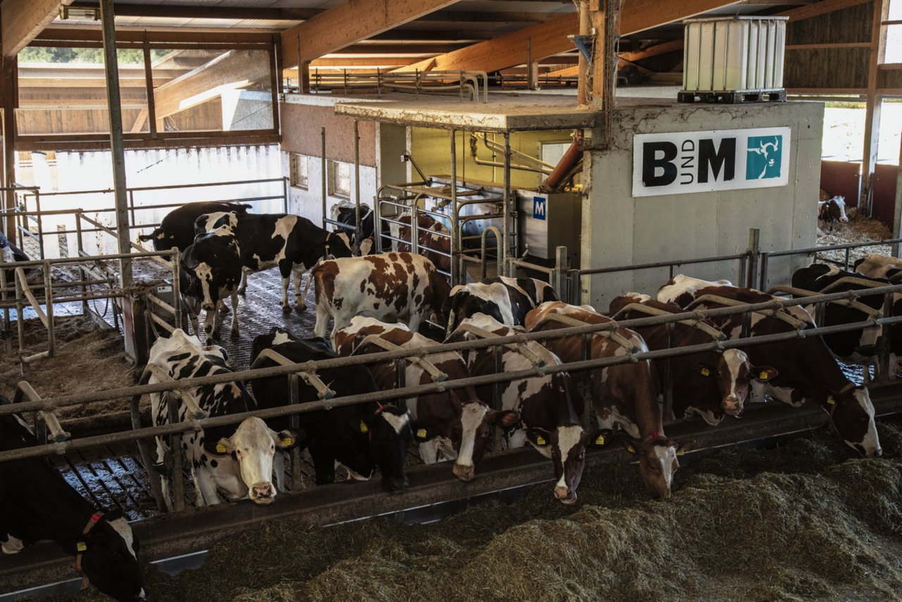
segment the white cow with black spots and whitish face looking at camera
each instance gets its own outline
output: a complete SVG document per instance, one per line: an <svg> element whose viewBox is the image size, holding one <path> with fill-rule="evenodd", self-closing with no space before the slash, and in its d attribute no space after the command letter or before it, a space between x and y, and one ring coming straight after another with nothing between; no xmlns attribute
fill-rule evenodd
<svg viewBox="0 0 902 602"><path fill-rule="evenodd" d="M149 366L159 367L173 380L198 376L229 373L226 366L226 350L222 347L201 347L198 338L176 329L170 338L158 338L151 347ZM150 383L161 382L153 375ZM182 391L207 416L250 412L256 408L253 397L244 384L228 382L205 384ZM156 425L169 424L168 394L151 394L152 421ZM188 408L180 398L171 403L178 405L179 421L186 420ZM287 403L287 400L286 400ZM182 449L197 488L198 505L219 503L217 489L222 489L229 499L244 495L257 504L269 504L276 496L272 486L273 457L276 449L289 449L297 443L292 431L272 431L259 418L248 418L235 424L185 431ZM169 454L169 438L157 437L157 466L166 465ZM163 493L169 499L169 478L162 477Z"/></svg>

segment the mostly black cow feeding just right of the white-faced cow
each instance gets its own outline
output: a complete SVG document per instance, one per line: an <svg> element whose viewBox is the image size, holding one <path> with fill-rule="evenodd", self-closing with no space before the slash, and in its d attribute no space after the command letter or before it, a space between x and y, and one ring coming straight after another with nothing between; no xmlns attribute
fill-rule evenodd
<svg viewBox="0 0 902 602"><path fill-rule="evenodd" d="M294 363L338 357L323 338L295 338L289 332L273 328L268 334L253 339L251 361L264 349L272 349ZM267 360L260 367L278 366ZM336 395L356 395L377 391L373 375L365 366L345 366L318 370L318 377ZM268 400L289 399L285 376L271 376L251 381L254 396L261 406ZM299 382L300 403L316 401L317 390L303 380ZM284 421L288 426L288 421ZM271 425L281 428L283 425ZM408 486L405 458L413 440L414 421L406 408L380 403L361 403L333 410L299 414L304 436L299 445L313 458L317 485L333 483L337 466L343 466L355 479L368 479L375 468L382 473L385 491L401 491Z"/></svg>

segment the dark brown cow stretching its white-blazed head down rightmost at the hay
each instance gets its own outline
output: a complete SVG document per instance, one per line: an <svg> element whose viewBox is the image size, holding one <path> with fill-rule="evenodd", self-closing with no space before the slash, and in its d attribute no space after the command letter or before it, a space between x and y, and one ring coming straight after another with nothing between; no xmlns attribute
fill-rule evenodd
<svg viewBox="0 0 902 602"><path fill-rule="evenodd" d="M765 292L732 286L711 286L695 292L697 297L704 295L717 295L743 303L761 303L775 299ZM718 307L723 307L723 304L701 301L692 305L692 309L697 310ZM814 320L807 311L800 307L791 309L787 311L789 315L809 326L814 325ZM740 338L742 320L741 314L733 314L712 321L730 338ZM750 323L751 336L766 336L795 329L786 321L763 313L752 314ZM762 401L764 394L795 407L811 400L830 415L830 421L847 445L869 458L882 454L874 423L874 406L870 403L867 387L856 386L842 374L823 338L794 338L778 343L752 345L748 354L752 364L767 362L779 371L778 375L767 382L752 382L751 397L754 401Z"/></svg>

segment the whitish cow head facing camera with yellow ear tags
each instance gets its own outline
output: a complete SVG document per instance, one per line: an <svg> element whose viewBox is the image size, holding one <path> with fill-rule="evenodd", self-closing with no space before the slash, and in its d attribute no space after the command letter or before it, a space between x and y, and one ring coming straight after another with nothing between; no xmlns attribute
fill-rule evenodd
<svg viewBox="0 0 902 602"><path fill-rule="evenodd" d="M248 418L235 434L216 443L216 453L229 454L238 462L241 480L257 504L269 504L276 496L272 485L272 457L276 449L290 449L298 437L292 431L272 431L259 418Z"/></svg>

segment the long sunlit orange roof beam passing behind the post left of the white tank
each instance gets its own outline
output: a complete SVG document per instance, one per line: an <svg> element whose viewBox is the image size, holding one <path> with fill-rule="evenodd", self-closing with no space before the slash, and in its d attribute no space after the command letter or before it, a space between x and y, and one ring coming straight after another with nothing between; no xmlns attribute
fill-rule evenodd
<svg viewBox="0 0 902 602"><path fill-rule="evenodd" d="M673 23L696 14L736 4L737 1L684 0L662 3L659 0L631 0L624 3L621 10L621 35L629 35L665 23ZM545 23L538 23L517 32L507 33L493 40L479 42L397 70L447 69L456 71L473 69L496 71L506 69L526 61L528 41L531 43L532 60L541 60L558 52L572 50L573 42L570 42L566 36L578 31L579 16L576 13L565 14Z"/></svg>

